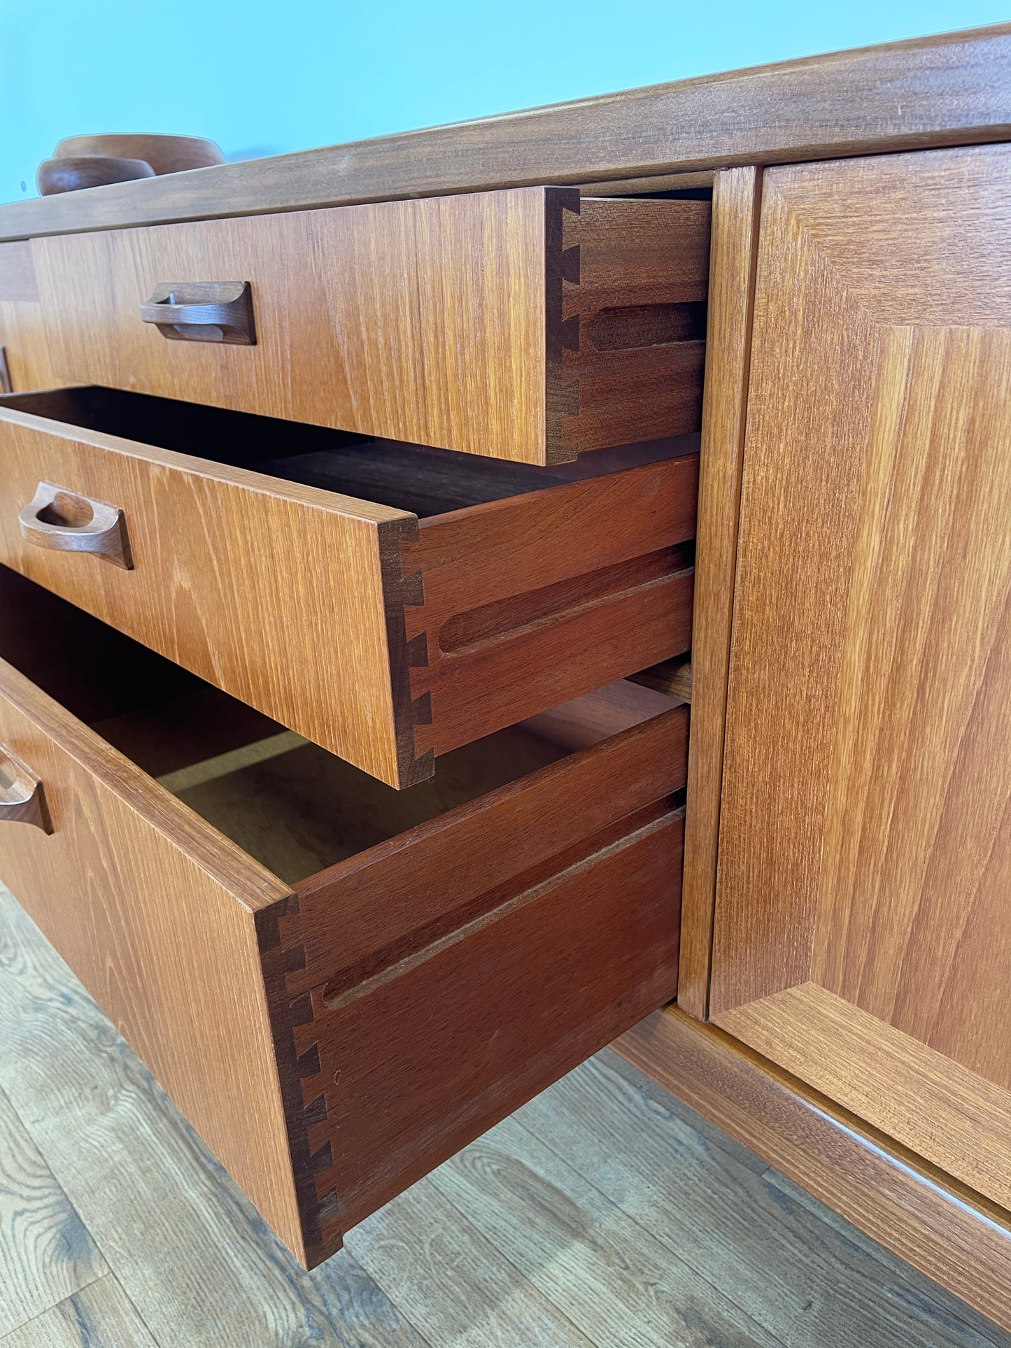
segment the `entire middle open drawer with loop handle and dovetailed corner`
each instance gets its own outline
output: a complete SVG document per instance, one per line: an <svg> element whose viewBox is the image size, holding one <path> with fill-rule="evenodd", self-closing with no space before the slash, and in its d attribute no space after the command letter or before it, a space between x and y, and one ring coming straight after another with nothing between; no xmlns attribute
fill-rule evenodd
<svg viewBox="0 0 1011 1348"><path fill-rule="evenodd" d="M549 469L102 388L0 403L0 562L391 786L690 646L696 437Z"/></svg>

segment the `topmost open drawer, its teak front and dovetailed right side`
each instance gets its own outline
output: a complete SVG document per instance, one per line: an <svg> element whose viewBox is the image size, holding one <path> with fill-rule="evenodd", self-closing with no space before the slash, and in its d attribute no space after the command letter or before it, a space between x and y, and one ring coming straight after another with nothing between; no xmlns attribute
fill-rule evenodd
<svg viewBox="0 0 1011 1348"><path fill-rule="evenodd" d="M708 202L522 187L54 236L32 256L61 381L527 464L700 426ZM248 283L255 345L194 303L209 283ZM183 322L143 321L155 295L190 297L168 306Z"/></svg>

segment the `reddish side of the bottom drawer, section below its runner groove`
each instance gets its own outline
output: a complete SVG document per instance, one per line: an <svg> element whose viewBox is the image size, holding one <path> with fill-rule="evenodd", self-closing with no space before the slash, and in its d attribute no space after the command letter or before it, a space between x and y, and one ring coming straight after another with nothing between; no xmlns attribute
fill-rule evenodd
<svg viewBox="0 0 1011 1348"><path fill-rule="evenodd" d="M682 816L628 816L625 832L519 876L491 914L330 1006L321 988L278 998L275 980L310 1266L674 996ZM284 922L294 934L298 914ZM298 946L264 953L264 967L298 961Z"/></svg>

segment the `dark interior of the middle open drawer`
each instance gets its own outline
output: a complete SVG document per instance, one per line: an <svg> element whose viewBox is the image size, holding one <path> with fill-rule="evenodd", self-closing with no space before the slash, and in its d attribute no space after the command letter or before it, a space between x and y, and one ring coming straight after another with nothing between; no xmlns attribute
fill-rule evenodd
<svg viewBox="0 0 1011 1348"><path fill-rule="evenodd" d="M0 398L0 406L411 511L419 519L698 450L698 434L677 435L538 468L97 386L12 394Z"/></svg>

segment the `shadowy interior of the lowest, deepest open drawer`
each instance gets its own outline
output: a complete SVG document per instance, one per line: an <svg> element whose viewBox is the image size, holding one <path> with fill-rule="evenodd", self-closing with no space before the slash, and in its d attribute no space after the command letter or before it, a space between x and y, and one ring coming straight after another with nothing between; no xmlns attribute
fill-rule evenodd
<svg viewBox="0 0 1011 1348"><path fill-rule="evenodd" d="M8 568L0 658L288 884L674 705L620 681L454 749L437 779L398 791Z"/></svg>

